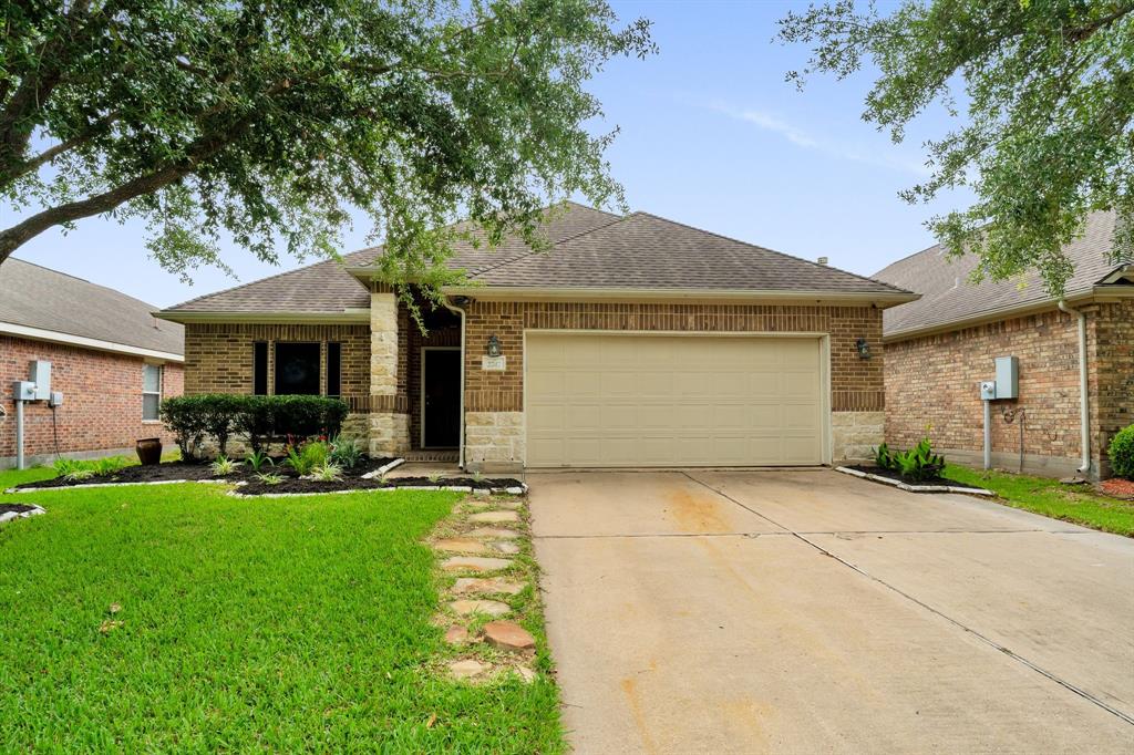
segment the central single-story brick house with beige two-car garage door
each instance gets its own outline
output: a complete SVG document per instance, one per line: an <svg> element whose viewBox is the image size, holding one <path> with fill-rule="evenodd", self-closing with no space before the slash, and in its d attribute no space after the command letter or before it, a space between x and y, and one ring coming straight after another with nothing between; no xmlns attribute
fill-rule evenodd
<svg viewBox="0 0 1134 755"><path fill-rule="evenodd" d="M341 396L372 453L814 465L881 441L881 313L908 291L646 213L568 203L543 232L459 243L468 285L422 303L428 336L380 247L160 316L185 324L187 392Z"/></svg>

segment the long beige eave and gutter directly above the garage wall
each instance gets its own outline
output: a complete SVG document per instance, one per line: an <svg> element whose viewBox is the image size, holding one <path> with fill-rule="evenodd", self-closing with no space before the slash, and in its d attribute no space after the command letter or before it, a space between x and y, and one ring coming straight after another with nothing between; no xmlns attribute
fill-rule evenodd
<svg viewBox="0 0 1134 755"><path fill-rule="evenodd" d="M858 303L879 308L897 306L921 298L908 291L820 291L779 289L634 288L634 287L544 287L544 286L446 286L448 296L468 296L484 300L551 302L776 302Z"/></svg>

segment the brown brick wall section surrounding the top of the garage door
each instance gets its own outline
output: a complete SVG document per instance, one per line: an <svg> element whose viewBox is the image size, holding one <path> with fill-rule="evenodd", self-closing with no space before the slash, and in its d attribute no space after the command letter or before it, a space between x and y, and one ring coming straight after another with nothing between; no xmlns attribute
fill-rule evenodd
<svg viewBox="0 0 1134 755"><path fill-rule="evenodd" d="M830 333L831 410L883 408L882 313L873 307L473 302L467 313L466 412L523 409L525 329ZM507 357L503 372L481 370L491 334ZM858 357L860 338L873 358Z"/></svg>

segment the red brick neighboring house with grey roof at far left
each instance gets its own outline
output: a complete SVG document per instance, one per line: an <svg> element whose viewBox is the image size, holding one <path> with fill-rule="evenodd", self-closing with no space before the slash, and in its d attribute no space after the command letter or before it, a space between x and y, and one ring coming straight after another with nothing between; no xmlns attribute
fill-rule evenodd
<svg viewBox="0 0 1134 755"><path fill-rule="evenodd" d="M139 438L171 439L156 416L181 393L180 325L151 305L9 257L0 265L0 468L16 461L12 383L51 363L62 404L24 404L25 464L134 453Z"/></svg>

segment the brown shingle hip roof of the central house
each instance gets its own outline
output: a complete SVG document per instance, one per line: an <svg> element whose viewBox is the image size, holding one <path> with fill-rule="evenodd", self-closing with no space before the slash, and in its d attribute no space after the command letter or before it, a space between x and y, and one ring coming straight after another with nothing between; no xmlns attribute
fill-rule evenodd
<svg viewBox="0 0 1134 755"><path fill-rule="evenodd" d="M456 244L448 264L489 290L801 292L807 296L908 300L908 291L835 268L691 228L657 215L617 215L575 203L551 212L542 232L550 249L535 252L517 236L496 248ZM193 319L209 314L332 315L369 307L365 278L382 247L320 262L203 296L162 312Z"/></svg>

